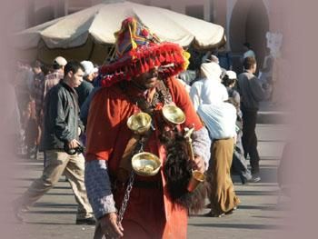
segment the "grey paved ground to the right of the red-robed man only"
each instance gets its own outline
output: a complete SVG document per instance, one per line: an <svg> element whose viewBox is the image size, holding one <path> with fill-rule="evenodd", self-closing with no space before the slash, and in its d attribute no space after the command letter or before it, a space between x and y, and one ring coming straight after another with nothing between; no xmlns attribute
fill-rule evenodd
<svg viewBox="0 0 318 239"><path fill-rule="evenodd" d="M234 176L234 189L241 200L238 209L222 218L191 217L188 238L274 238L281 227L286 227L288 212L283 210L282 204L277 205L280 191L276 174L287 131L284 125L257 125L261 182L242 185L239 177ZM288 198L283 197L283 202L288 203ZM203 214L205 212L208 210Z"/></svg>

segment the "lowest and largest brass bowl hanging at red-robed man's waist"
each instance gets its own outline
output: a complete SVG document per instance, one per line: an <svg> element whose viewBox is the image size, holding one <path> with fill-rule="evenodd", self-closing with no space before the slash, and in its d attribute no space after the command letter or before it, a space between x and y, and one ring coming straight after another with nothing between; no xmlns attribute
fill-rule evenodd
<svg viewBox="0 0 318 239"><path fill-rule="evenodd" d="M161 167L160 159L151 153L134 154L132 158L134 173L141 176L154 176Z"/></svg>

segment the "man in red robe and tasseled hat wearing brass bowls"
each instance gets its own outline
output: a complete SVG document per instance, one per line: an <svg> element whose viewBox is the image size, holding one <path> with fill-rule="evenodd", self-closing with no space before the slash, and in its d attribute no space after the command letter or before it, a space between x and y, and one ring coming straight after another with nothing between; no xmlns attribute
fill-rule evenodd
<svg viewBox="0 0 318 239"><path fill-rule="evenodd" d="M107 238L186 238L187 208L172 200L164 174L170 153L163 135L194 127L194 160L190 163L201 173L207 168L211 145L184 86L173 77L186 68L186 53L179 45L160 43L133 17L124 20L115 46L116 61L100 69L103 87L90 105L86 132L85 185L97 227ZM163 105L182 109L184 123L167 124ZM136 175L130 184L119 169L134 138L127 119L141 111L149 113L154 124L143 150L157 155L163 167L154 176ZM127 185L132 186L129 200L124 199ZM126 209L120 222L118 210L123 204Z"/></svg>

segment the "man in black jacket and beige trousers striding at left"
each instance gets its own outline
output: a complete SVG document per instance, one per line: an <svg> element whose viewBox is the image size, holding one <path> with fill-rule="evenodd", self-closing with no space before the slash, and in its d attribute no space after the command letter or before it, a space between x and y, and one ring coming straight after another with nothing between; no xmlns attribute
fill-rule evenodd
<svg viewBox="0 0 318 239"><path fill-rule="evenodd" d="M83 75L83 65L78 62L67 63L64 79L46 95L43 135L45 169L25 194L15 200L15 215L18 218L22 219L21 211L34 204L65 174L78 203L76 224L94 224L92 207L84 187L84 156L81 153L65 153L65 148L76 149L80 145L78 137L83 131L83 124L79 119L75 87L81 85Z"/></svg>

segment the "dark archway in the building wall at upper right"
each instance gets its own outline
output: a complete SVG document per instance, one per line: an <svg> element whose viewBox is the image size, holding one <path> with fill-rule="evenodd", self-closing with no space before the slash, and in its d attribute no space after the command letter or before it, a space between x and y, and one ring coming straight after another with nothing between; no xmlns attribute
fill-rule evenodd
<svg viewBox="0 0 318 239"><path fill-rule="evenodd" d="M263 64L266 55L266 37L269 19L263 1L238 0L230 20L230 46L234 53L234 70L242 71L239 55L243 54L243 43L249 42L256 54L258 65Z"/></svg>

